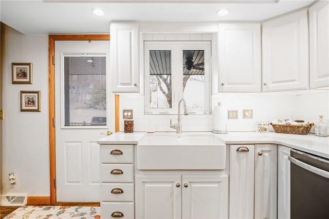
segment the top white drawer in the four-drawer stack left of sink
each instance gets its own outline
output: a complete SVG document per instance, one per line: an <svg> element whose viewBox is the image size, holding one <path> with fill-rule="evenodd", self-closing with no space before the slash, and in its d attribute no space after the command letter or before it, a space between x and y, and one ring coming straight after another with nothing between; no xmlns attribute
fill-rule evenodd
<svg viewBox="0 0 329 219"><path fill-rule="evenodd" d="M134 146L133 145L101 145L100 162L101 163L133 163Z"/></svg>

